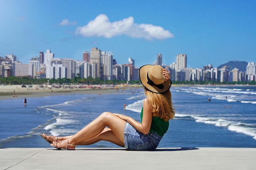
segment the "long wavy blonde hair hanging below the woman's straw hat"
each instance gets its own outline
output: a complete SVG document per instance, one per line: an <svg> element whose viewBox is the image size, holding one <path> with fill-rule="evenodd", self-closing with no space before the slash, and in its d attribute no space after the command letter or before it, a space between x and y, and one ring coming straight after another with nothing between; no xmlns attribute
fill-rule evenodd
<svg viewBox="0 0 256 170"><path fill-rule="evenodd" d="M168 121L175 116L173 104L171 101L171 91L164 93L153 93L144 87L144 94L148 99L148 104L152 108L153 116Z"/></svg>

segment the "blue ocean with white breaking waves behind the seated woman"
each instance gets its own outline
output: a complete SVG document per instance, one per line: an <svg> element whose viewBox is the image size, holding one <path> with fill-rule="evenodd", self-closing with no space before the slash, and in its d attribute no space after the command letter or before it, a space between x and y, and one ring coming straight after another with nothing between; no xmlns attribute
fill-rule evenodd
<svg viewBox="0 0 256 170"><path fill-rule="evenodd" d="M171 93L176 114L158 147L256 147L256 86L172 86ZM128 88L100 96L27 97L27 106L23 99L0 100L0 148L49 148L40 133L73 135L105 111L140 121L143 99L142 88ZM78 147L119 146L100 141Z"/></svg>

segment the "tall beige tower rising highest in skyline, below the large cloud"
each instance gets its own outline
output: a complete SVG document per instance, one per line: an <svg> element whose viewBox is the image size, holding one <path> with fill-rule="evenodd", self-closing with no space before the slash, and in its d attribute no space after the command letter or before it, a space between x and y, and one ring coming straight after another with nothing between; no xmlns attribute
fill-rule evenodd
<svg viewBox="0 0 256 170"><path fill-rule="evenodd" d="M99 50L96 47L91 49L90 63L94 64L94 66L92 66L92 73L96 77L93 77L93 78L102 78L101 50ZM95 66L97 66L97 67L94 68Z"/></svg>

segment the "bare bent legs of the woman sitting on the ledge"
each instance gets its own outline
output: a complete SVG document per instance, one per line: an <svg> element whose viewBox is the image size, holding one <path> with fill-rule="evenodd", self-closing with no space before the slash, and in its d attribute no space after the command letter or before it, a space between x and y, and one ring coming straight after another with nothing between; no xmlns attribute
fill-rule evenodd
<svg viewBox="0 0 256 170"><path fill-rule="evenodd" d="M104 112L99 117L94 119L90 124L77 132L75 135L72 135L72 137L68 138L68 143L74 145L81 145L93 144L99 140L106 140L111 141L112 143L119 146L124 146L125 124L126 121L124 121L123 119L120 119L119 117L113 115L110 112ZM106 132L103 132L106 126L108 126L111 131L106 130ZM67 139L65 141L67 142Z"/></svg>

